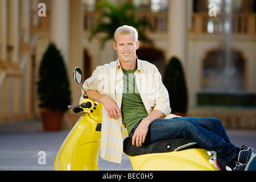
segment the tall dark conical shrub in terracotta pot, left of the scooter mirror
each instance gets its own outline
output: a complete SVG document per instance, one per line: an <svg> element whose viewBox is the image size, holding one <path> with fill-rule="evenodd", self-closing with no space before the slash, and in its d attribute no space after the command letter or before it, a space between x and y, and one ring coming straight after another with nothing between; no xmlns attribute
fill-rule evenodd
<svg viewBox="0 0 256 182"><path fill-rule="evenodd" d="M64 112L71 104L71 90L63 56L50 43L39 67L39 107L45 131L61 129Z"/></svg>

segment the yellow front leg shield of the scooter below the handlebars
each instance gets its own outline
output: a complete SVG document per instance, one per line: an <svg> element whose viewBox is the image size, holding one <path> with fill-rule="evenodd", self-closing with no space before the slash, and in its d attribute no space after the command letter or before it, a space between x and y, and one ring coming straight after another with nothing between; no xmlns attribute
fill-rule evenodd
<svg viewBox="0 0 256 182"><path fill-rule="evenodd" d="M96 122L84 114L69 132L55 158L55 170L98 170L101 132Z"/></svg>

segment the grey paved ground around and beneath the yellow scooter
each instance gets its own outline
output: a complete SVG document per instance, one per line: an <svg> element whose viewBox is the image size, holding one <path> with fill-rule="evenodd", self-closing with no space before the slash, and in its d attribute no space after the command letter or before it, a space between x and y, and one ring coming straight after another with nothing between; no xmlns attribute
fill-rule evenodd
<svg viewBox="0 0 256 182"><path fill-rule="evenodd" d="M68 132L44 132L40 121L0 124L0 170L53 170L55 156ZM236 146L245 144L256 150L255 130L227 130L227 133ZM39 151L46 152L46 164L38 163L42 155ZM127 156L123 156L122 164L106 162L99 158L99 169L133 170Z"/></svg>

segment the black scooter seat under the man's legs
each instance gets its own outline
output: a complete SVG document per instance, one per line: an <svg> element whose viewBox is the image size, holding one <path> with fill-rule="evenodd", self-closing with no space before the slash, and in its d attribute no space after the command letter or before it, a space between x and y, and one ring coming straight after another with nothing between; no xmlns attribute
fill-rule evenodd
<svg viewBox="0 0 256 182"><path fill-rule="evenodd" d="M132 139L130 137L123 140L123 152L129 156L172 152L188 148L201 148L197 143L187 138L160 140L150 144L143 143L142 146L139 147L131 144L131 141Z"/></svg>

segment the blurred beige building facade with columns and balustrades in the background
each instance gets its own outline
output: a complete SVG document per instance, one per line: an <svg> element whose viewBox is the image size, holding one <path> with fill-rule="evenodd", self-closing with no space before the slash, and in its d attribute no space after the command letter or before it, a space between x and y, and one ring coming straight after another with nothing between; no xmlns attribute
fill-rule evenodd
<svg viewBox="0 0 256 182"><path fill-rule="evenodd" d="M146 31L154 46L141 43L139 59L150 59L162 75L172 56L180 59L187 80L188 115L207 116L203 110L212 116L209 108L198 109L204 93L256 94L255 0L127 1L138 7L138 18L150 20L154 27ZM127 1L111 2L118 6ZM72 81L73 69L81 67L86 78L97 65L117 59L113 40L104 49L102 35L88 40L100 14L94 10L97 2L0 0L0 122L39 118L36 81L49 42L63 53L72 104L81 93ZM249 111L255 113L253 107ZM67 115L72 126L77 117Z"/></svg>

